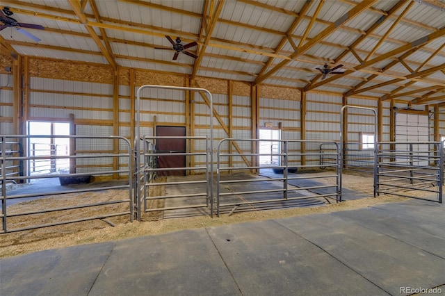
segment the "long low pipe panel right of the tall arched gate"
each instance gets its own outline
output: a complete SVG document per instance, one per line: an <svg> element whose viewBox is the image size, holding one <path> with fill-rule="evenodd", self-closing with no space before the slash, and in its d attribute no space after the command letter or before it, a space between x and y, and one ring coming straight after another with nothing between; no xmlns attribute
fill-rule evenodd
<svg viewBox="0 0 445 296"><path fill-rule="evenodd" d="M241 143L253 143L253 142L259 142L259 141L270 141L270 142L280 142L282 151L279 153L270 153L270 154L259 154L259 153L252 153L252 154L238 154L238 153L223 153L221 151L221 147L225 145L227 142L227 145L232 145L232 142L237 142L238 145L241 145ZM323 164L325 167L331 167L334 169L334 172L330 175L323 175L323 176L309 176L302 174L300 176L289 176L289 169L293 170L299 170L299 169L314 169L314 168L320 168L321 164L318 165L289 165L291 163L291 158L295 157L302 157L305 156L306 159L314 158L317 160L320 158L320 153L291 153L291 146L294 145L301 145L302 142L305 143L313 143L316 145L321 145L323 143L334 145L337 147L335 149L335 152L332 154L329 154L330 157L334 158L337 161L335 163L330 164ZM327 155L327 154L326 154ZM228 161L222 161L222 158L241 158L245 156L279 156L282 158L282 165L261 165L261 166L248 166L248 165L238 165L238 166L224 166L225 163L229 163ZM236 163L235 160L233 160L233 163ZM339 187L340 184L340 174L339 170L341 167L340 157L339 157L339 147L336 142L333 141L323 141L323 140L265 140L265 139L236 139L236 138L225 138L223 140L220 140L218 144L217 149L217 170L216 170L216 208L217 208L217 215L220 215L220 211L222 207L227 206L233 206L232 211L230 214L232 214L238 206L241 205L248 205L252 206L253 204L265 204L265 203L273 203L273 202L288 202L288 201L295 201L298 199L314 199L318 197L323 197L326 199L326 197L335 197L335 200L337 202L341 201L341 188ZM227 179L222 180L221 179L221 173L223 171L241 171L241 170L259 170L259 169L273 169L273 170L282 170L282 177L277 178L246 178L246 179ZM335 185L320 185L320 183L312 182L310 186L304 186L300 185L300 183L304 183L304 181L312 180L312 179L320 179L320 178L335 178L336 184ZM245 190L245 188L248 188L250 185L249 183L257 183L257 182L275 182L275 184L281 184L280 186L276 186L275 189L264 189L258 186L253 186L254 190ZM293 182L295 181L295 182ZM291 183L299 182L298 185L292 186L289 188L289 185L292 185ZM245 184L243 186L243 190L236 190L237 184ZM228 188L226 184L231 184L232 188ZM222 192L222 187L226 186L227 192ZM334 188L332 190L333 192L321 192L316 193L314 191L318 190L326 190L328 188ZM301 194L299 192L305 192L305 194ZM273 195L275 193L281 193L282 197L270 197L270 195ZM267 196L261 197L261 195L267 194ZM291 197L290 195L296 195ZM224 201L223 197L231 196L232 201ZM230 215L229 214L229 215Z"/></svg>

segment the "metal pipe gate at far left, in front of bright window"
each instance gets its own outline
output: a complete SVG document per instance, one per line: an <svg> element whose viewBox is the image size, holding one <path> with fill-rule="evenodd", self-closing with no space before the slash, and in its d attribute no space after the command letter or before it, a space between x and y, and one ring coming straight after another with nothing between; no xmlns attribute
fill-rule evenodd
<svg viewBox="0 0 445 296"><path fill-rule="evenodd" d="M76 141L87 141L87 142L94 142L94 145L91 145L91 147L97 147L97 151L88 151L86 153L77 153L76 155L71 156L24 156L22 155L14 155L14 154L7 154L3 153L3 151L7 151L7 145L10 142L22 142L22 146L24 145L24 141L29 141L30 138L70 138ZM14 141L8 141L8 139L13 139ZM102 142L101 142L102 141ZM102 151L103 147L109 147L113 145L114 141L118 141L118 145L124 146L125 153L106 153ZM22 230L28 230L28 229L38 229L42 227L50 227L50 226L56 226L61 224L69 224L73 222L82 222L82 221L88 221L88 220L96 220L96 219L104 219L106 217L115 217L120 215L129 215L129 220L133 220L133 197L132 197L132 186L133 183L131 178L133 174L133 166L132 166L132 154L131 154L131 145L129 140L124 137L120 136L82 136L82 135L0 135L0 147L1 147L1 220L2 220L2 226L0 233L6 233L6 232L13 232L13 231L22 231ZM26 145L29 147L29 145ZM103 170L102 166L95 166L92 165L89 167L83 167L83 172L79 172L76 174L39 174L35 176L29 176L28 174L22 174L20 176L17 176L16 174L8 174L6 173L6 163L8 162L31 162L31 161L57 161L60 159L67 159L67 160L74 160L74 163L81 163L84 160L92 160L95 159L96 161L104 160L106 163L110 163L113 161L116 161L119 163L119 159L125 158L127 160L128 166L124 170ZM81 167L81 165L78 165ZM128 176L128 184L126 185L120 185L120 186L106 186L106 187L90 187L90 188L82 188L82 189L70 189L70 190L63 190L63 191L50 191L47 190L45 192L31 192L26 194L8 194L8 190L6 190L6 183L8 181L30 181L31 179L50 179L50 178L76 178L76 177L82 177L82 176L106 176L106 175L115 175L115 174L123 174L124 176ZM80 193L80 192L94 192L94 191L102 191L102 190L108 190L108 189L125 189L127 188L129 190L129 198L128 199L113 199L106 202L88 202L88 203L80 203L75 204L72 206L63 206L60 205L57 208L45 208L38 211L26 211L26 212L19 212L19 213L10 213L8 214L8 207L7 202L13 201L13 200L20 200L20 199L26 199L29 197L47 197L49 195L65 195L67 193ZM73 197L75 199L75 197ZM54 213L54 212L61 212L61 211L68 211L68 210L74 210L77 208L90 208L90 207L100 207L100 206L107 206L107 205L115 205L115 204L128 204L128 210L127 211L121 211L116 213L115 211L111 211L110 213L104 213L102 215L95 215L90 217L79 217L74 220L57 220L55 222L50 222L46 224L35 224L35 225L28 225L26 224L23 227L16 227L11 229L8 227L8 218L11 217L21 217L21 216L31 216L31 215L38 215L41 213Z"/></svg>

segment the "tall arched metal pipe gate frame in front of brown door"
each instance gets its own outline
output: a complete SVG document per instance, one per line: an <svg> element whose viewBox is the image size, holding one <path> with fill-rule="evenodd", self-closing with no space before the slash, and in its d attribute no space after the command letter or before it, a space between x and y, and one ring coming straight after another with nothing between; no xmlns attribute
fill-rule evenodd
<svg viewBox="0 0 445 296"><path fill-rule="evenodd" d="M156 89L164 89L164 90L184 90L184 91L194 91L194 92L204 92L207 97L209 98L209 126L210 126L210 135L208 137L204 137L204 138L200 138L200 137L194 137L195 140L203 140L206 139L206 146L205 146L205 155L206 155L206 167L205 167L205 172L206 172L206 206L210 206L210 215L211 217L213 217L213 207L214 207L214 200L213 200L213 99L212 99L212 95L211 92L209 92L209 90L206 90L204 88L188 88L188 87L182 87L182 86L170 86L170 85L142 85L140 86L140 88L138 88L138 91L136 92L136 104L135 104L135 108L136 108L136 131L135 131L135 136L134 136L134 157L135 157L135 172L134 172L134 194L135 194L135 215L136 215L136 219L140 222L141 221L141 212L142 211L146 211L147 210L147 200L149 199L161 199L161 197L149 197L149 188L147 188L147 186L154 186L153 183L148 183L147 182L147 176L149 176L150 174L154 174L156 173L157 168L154 167L150 167L146 162L145 159L147 157L152 157L154 156L153 153L152 155L146 155L146 151L144 150L144 147L146 147L146 145L156 145L156 143L149 143L147 142L147 140L150 137L145 137L145 135L140 135L140 93L145 89L145 88L156 88ZM156 137L151 137L152 140L155 140ZM167 137L168 138L168 137ZM170 137L172 138L172 137ZM184 137L187 139L193 139L193 137ZM207 140L207 138L209 140ZM141 151L142 149L142 151ZM147 151L147 154L148 151ZM176 153L175 153L176 154ZM160 155L165 155L165 154L156 154L157 156ZM176 154L179 155L179 154ZM194 152L190 152L190 153L184 153L184 156L192 156L192 155L197 155ZM201 155L204 155L201 153ZM204 170L204 168L202 167L188 167L188 168L175 168L175 170ZM203 181L201 181L201 183L203 183ZM168 182L168 183L163 183L163 185L168 185L168 186L176 186L181 184L181 182L179 181L173 181L173 182ZM200 196L202 195L202 193L200 193ZM184 195L181 195L182 197L184 197ZM165 199L166 197L164 196L163 199ZM168 197L168 198L174 198L172 196ZM210 202L210 205L208 204ZM200 208L202 207L202 204L198 204L198 205L190 205L190 206L172 206L170 208L163 208L163 211L165 210L174 210L174 209L179 209L179 208ZM156 208L156 210L147 210L147 211L161 211L158 210Z"/></svg>

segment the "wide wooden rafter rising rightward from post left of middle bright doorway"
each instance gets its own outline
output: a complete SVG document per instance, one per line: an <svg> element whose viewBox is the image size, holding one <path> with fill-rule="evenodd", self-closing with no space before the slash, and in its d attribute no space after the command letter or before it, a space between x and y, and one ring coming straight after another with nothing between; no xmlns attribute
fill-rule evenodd
<svg viewBox="0 0 445 296"><path fill-rule="evenodd" d="M332 32L337 30L337 28L343 26L343 24L348 22L350 19L355 18L357 15L359 15L364 10L369 8L371 5L373 5L373 3L375 3L375 0L369 0L369 1L365 0L365 1L362 1L362 3L357 4L357 6L355 6L351 10L349 10L348 13L346 13L345 15L343 15L342 17L337 19L336 22L332 23L330 26L327 26L327 28L325 28L323 31L321 31L321 33L319 33L315 38L313 38L311 41L307 42L302 47L300 47L300 49L298 49L298 51L291 54L291 56L289 56L289 58L291 58L291 60L293 60L293 58L296 58L296 57L300 56L301 54L305 53L305 51L314 47L316 44L318 44L318 42L323 40L323 38L325 38L327 35L330 35ZM259 76L257 79L255 79L254 83L258 84L258 83L263 82L264 80L268 79L268 77L270 75L274 74L275 72L277 72L279 69L281 69L284 65L286 65L288 63L289 63L289 60L283 60L280 64L273 67L273 69L270 69L267 73L265 73L265 74Z"/></svg>

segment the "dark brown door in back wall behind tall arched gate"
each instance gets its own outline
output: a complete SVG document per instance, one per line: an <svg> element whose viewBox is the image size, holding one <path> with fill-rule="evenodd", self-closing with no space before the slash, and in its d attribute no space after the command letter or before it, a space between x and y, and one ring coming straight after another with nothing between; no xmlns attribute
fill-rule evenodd
<svg viewBox="0 0 445 296"><path fill-rule="evenodd" d="M181 136L185 137L185 126L156 126L156 136ZM186 152L185 139L157 139L156 150L158 153L170 153L172 155L159 156L157 158L158 168L186 167L186 156L175 155L175 153ZM185 176L185 170L163 170L158 171L159 176Z"/></svg>

